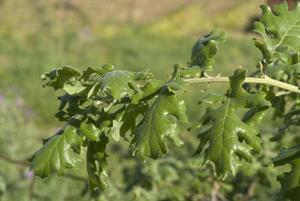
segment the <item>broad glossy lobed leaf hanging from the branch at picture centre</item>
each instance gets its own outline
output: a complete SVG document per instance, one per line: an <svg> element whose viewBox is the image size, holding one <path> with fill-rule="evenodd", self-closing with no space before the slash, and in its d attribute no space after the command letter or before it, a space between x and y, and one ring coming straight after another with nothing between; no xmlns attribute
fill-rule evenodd
<svg viewBox="0 0 300 201"><path fill-rule="evenodd" d="M131 142L135 146L134 155L142 159L158 158L168 152L166 139L182 145L176 127L178 121L187 121L185 110L184 102L179 101L165 86L135 130Z"/></svg>

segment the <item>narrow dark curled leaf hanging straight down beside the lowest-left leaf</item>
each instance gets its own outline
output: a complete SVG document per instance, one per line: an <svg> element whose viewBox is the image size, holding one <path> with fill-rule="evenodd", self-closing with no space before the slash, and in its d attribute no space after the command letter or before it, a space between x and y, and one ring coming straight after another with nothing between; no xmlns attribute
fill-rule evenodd
<svg viewBox="0 0 300 201"><path fill-rule="evenodd" d="M87 148L87 172L89 175L89 185L92 189L103 189L108 186L107 154L105 152L108 138L102 133L99 141L90 141Z"/></svg>

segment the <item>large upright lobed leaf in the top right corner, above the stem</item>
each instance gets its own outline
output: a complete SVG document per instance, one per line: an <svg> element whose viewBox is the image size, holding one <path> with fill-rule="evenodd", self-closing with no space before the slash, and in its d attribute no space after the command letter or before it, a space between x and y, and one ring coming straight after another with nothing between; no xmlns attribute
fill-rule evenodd
<svg viewBox="0 0 300 201"><path fill-rule="evenodd" d="M274 6L273 11L266 5L261 6L262 17L255 23L254 31L262 36L255 45L263 55L263 62L272 63L280 59L294 64L299 61L300 52L300 4L295 10L288 10L288 4Z"/></svg>

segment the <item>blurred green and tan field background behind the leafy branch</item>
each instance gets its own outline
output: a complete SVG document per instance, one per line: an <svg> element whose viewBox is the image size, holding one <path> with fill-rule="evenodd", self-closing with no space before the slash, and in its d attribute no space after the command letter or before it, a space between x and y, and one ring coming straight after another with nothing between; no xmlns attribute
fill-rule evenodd
<svg viewBox="0 0 300 201"><path fill-rule="evenodd" d="M111 187L103 192L87 191L84 162L74 172L46 180L34 178L27 168L41 140L60 126L54 118L57 94L42 88L41 73L63 65L83 69L109 63L120 69L150 69L167 79L173 64L189 60L195 40L215 27L228 34L216 71L229 75L239 66L254 71L259 54L249 30L262 3L0 0L0 200L275 200L277 170L257 162L221 182L211 169L200 170L201 159L191 154L196 135L185 130L185 147L157 161L130 159L126 143L112 146ZM200 90L187 92L189 111L195 111ZM263 128L266 142L270 124ZM266 144L260 161L273 156L274 145Z"/></svg>

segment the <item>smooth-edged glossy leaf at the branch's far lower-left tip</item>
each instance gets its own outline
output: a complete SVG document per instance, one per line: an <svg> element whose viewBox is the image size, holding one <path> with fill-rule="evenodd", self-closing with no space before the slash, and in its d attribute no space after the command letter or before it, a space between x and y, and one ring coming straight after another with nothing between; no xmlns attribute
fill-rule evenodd
<svg viewBox="0 0 300 201"><path fill-rule="evenodd" d="M77 129L67 125L46 143L33 156L31 169L42 178L55 173L63 173L73 168L79 160L81 138Z"/></svg>

